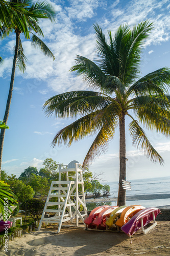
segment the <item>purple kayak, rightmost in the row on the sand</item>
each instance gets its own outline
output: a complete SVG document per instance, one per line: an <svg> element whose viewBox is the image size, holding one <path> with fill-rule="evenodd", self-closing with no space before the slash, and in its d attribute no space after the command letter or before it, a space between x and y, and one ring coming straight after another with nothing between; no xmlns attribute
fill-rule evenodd
<svg viewBox="0 0 170 256"><path fill-rule="evenodd" d="M160 210L156 207L149 207L140 210L135 214L132 219L130 219L125 225L121 227L128 236L132 236L137 230L141 229L141 221L143 220L143 227L154 220L153 214L156 216L159 214Z"/></svg>

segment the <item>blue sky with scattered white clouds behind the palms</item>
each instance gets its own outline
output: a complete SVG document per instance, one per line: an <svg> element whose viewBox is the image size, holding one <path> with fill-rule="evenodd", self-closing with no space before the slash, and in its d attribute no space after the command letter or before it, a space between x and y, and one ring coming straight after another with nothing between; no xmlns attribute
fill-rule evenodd
<svg viewBox="0 0 170 256"><path fill-rule="evenodd" d="M87 90L80 77L69 73L76 54L94 58L95 34L93 24L98 23L105 35L112 35L119 25L128 23L131 27L149 19L154 22L154 30L145 44L141 62L142 76L162 67L170 67L170 4L169 1L100 1L71 0L53 1L57 11L56 23L42 20L40 27L44 41L56 56L53 61L31 47L22 38L22 46L28 58L27 70L16 71L14 91L8 119L3 151L3 166L9 174L19 176L28 166L42 167L47 157L68 164L72 160L83 162L93 138L86 138L71 147L51 147L56 132L72 120L45 117L42 105L46 99L72 90ZM4 64L0 66L0 120L3 120L9 90L15 34L0 41ZM128 127L128 118L126 124ZM163 167L150 162L143 152L132 146L127 137L127 179L169 176L170 140L159 134L147 133L153 146L163 157ZM117 181L119 172L118 131L110 143L107 154L96 159L90 170L103 173L106 181Z"/></svg>

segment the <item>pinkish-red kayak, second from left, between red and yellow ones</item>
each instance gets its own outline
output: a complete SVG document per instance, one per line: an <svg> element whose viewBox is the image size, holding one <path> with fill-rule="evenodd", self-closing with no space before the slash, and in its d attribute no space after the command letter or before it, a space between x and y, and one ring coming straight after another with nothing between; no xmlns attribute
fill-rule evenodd
<svg viewBox="0 0 170 256"><path fill-rule="evenodd" d="M109 217L111 212L115 209L118 208L118 206L109 206L105 209L103 209L98 217L92 222L93 225L99 226L101 225L102 227L106 227L106 217Z"/></svg>

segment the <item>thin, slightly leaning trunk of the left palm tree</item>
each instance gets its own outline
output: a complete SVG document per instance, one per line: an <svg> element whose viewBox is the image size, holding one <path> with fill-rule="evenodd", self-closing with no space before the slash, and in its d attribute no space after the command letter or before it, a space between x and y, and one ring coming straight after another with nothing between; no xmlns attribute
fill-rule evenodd
<svg viewBox="0 0 170 256"><path fill-rule="evenodd" d="M7 99L7 104L6 104L5 115L4 115L4 121L6 124L8 121L9 110L10 110L11 99L12 99L12 91L13 91L13 87L14 87L16 61L17 61L18 48L19 48L19 36L20 36L20 32L16 31L15 54L14 54L13 66L12 66L10 89L9 89L9 94L8 94L8 99ZM5 130L6 129L1 129L1 134L0 134L0 180L1 180L1 166L2 166Z"/></svg>

